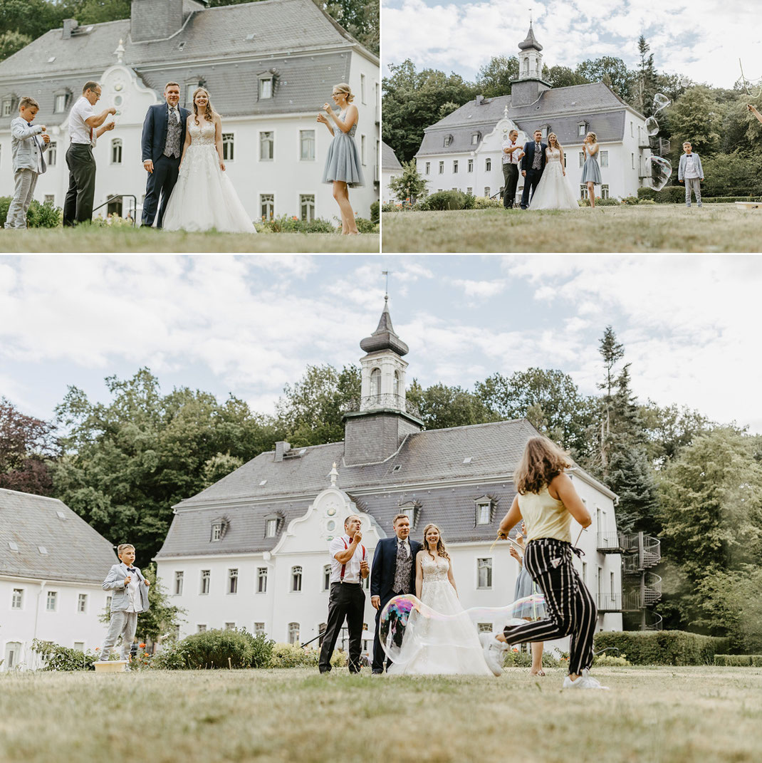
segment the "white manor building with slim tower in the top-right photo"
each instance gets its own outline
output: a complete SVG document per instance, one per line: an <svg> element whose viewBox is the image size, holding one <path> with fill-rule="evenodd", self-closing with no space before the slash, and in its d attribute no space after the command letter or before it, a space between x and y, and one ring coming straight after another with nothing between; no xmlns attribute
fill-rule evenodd
<svg viewBox="0 0 762 763"><path fill-rule="evenodd" d="M578 198L587 198L582 176L582 144L588 132L600 143L603 185L596 194L603 198L635 196L648 185L651 150L645 117L625 103L603 82L551 89L542 79L542 45L535 40L532 25L519 44L519 76L510 95L484 98L477 95L427 127L416 165L427 190L459 190L476 196L503 192L502 143L510 130L519 131L519 141L533 140L542 130L542 140L555 133L564 147L567 177ZM519 175L517 196L524 187Z"/></svg>

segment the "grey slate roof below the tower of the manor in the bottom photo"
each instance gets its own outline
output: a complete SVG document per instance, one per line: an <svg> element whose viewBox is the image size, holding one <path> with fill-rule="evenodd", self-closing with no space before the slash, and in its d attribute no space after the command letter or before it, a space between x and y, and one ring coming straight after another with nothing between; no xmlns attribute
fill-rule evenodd
<svg viewBox="0 0 762 763"><path fill-rule="evenodd" d="M302 456L286 456L281 462L273 451L260 453L175 506L156 558L274 548L280 533L265 538L266 517L281 513L281 527L286 527L304 516L314 497L329 486L333 462L338 464L338 487L387 533L400 505L419 501L416 532L433 521L451 542L493 539L515 495L513 469L526 440L535 434L526 419L428 430L408 436L387 461L358 466L342 463L344 443L308 447ZM471 462L464 463L468 458ZM476 526L474 501L484 494L497 501L494 521ZM220 517L227 519L229 529L221 541L210 542L211 523Z"/></svg>

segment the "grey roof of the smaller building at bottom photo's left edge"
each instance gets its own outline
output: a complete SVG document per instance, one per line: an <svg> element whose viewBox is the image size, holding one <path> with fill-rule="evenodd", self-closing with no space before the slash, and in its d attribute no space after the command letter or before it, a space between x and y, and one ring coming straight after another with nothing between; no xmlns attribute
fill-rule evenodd
<svg viewBox="0 0 762 763"><path fill-rule="evenodd" d="M118 562L111 543L57 498L0 489L0 575L102 583Z"/></svg>

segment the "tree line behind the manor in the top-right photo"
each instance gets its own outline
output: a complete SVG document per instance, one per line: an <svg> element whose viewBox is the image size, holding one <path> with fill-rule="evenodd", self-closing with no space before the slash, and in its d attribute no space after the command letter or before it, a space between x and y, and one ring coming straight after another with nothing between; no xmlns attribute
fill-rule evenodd
<svg viewBox="0 0 762 763"><path fill-rule="evenodd" d="M674 182L683 142L689 140L702 159L703 195L762 195L762 124L746 108L749 103L762 108L762 98L748 95L740 80L732 89L713 88L687 76L658 72L643 36L638 39L638 50L640 62L635 69L615 56L602 56L574 69L543 66L542 76L554 88L604 82L645 117L653 114L654 95L661 92L671 105L656 115L660 129L653 146L659 153L658 140L669 142L669 150L662 153L672 163ZM391 74L381 82L383 138L400 162L409 162L420 148L426 127L477 95L509 95L519 74L519 60L494 56L481 66L474 82L436 69L416 71L410 60L389 69Z"/></svg>

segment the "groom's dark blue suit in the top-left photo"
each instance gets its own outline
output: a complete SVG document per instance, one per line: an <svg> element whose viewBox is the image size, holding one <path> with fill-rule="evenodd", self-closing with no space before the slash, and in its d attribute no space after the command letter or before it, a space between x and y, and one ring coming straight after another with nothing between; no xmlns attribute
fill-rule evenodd
<svg viewBox="0 0 762 763"><path fill-rule="evenodd" d="M169 106L160 103L148 108L146 119L143 121L143 162L146 159L153 161L153 172L148 173L146 180L146 198L143 201L143 225L153 225L156 217L156 208L159 206L159 195L162 203L159 207L158 227L162 227L164 211L166 210L169 195L177 182L180 169L180 156L182 156L182 144L185 143L185 124L188 121L187 108L175 107L180 114L178 126L180 146L178 156L165 156L167 147L167 134L169 132ZM176 148L176 146L175 146ZM177 152L175 152L177 153Z"/></svg>

